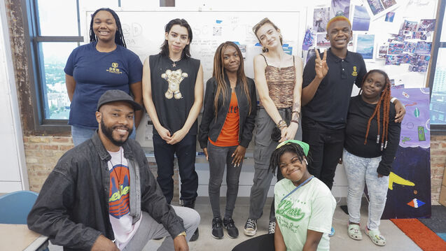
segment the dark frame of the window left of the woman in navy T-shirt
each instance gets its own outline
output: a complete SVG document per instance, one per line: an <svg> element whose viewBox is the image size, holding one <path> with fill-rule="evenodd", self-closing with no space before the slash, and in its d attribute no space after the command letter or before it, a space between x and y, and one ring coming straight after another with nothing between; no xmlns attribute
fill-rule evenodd
<svg viewBox="0 0 446 251"><path fill-rule="evenodd" d="M78 46L84 42L81 36L81 22L79 0L76 1L78 36L40 36L39 28L39 7L35 0L22 1L22 11L24 13L23 28L25 32L25 43L27 43L27 64L29 68L29 81L31 87L31 97L34 112L34 131L43 133L67 133L71 131L68 120L47 119L45 116L46 108L46 78L44 76L43 50L41 43L67 42L78 43ZM25 16L26 14L26 16ZM29 34L29 38L27 37Z"/></svg>

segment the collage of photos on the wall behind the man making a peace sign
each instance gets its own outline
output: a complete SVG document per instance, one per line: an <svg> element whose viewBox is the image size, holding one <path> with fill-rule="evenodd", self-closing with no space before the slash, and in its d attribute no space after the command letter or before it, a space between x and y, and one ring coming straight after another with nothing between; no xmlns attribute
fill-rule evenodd
<svg viewBox="0 0 446 251"><path fill-rule="evenodd" d="M367 0L367 4L352 5L350 8L350 0L331 0L330 6L314 8L312 27L307 29L302 44L302 50L307 50L304 52L305 58L308 60L309 55L314 55L312 48L323 51L330 47L330 41L326 38L326 25L330 18L344 15L351 21L351 29L355 34L355 39L349 42L348 50L360 53L364 59L382 59L385 65L408 64L408 71L426 72L431 59L435 20L402 20L400 16L395 17L400 15L398 1ZM369 31L370 22L377 18L382 18L394 27L386 42L377 41L381 37L375 34L362 32Z"/></svg>

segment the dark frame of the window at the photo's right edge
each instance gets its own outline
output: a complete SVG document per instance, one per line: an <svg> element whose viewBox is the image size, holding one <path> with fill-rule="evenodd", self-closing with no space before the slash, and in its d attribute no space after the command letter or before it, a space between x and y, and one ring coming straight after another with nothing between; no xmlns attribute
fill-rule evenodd
<svg viewBox="0 0 446 251"><path fill-rule="evenodd" d="M438 0L435 36L433 38L433 48L431 52L431 66L428 73L429 99L432 98L433 80L435 78L435 68L437 66L438 51L446 48L446 42L441 42L441 31L445 18L446 0ZM446 27L445 27L446 28ZM445 31L446 32L446 31ZM431 135L446 135L446 124L431 124Z"/></svg>

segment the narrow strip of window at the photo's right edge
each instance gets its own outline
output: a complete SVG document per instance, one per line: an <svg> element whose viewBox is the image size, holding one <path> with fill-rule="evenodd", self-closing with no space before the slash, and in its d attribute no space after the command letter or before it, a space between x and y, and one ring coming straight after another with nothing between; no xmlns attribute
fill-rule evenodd
<svg viewBox="0 0 446 251"><path fill-rule="evenodd" d="M440 0L438 27L433 48L432 71L429 78L431 89L431 132L446 132L446 1ZM444 29L443 29L444 28ZM435 57L436 55L436 57Z"/></svg>

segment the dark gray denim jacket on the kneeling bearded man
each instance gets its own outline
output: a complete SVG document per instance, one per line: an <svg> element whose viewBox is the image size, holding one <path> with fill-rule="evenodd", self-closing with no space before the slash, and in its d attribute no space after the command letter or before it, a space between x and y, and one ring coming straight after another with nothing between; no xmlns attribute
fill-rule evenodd
<svg viewBox="0 0 446 251"><path fill-rule="evenodd" d="M141 210L161 223L172 238L186 229L183 220L166 202L148 168L146 155L137 141L124 145L130 173L130 215L133 222ZM66 152L46 179L28 215L28 227L48 236L64 250L91 250L100 234L114 239L109 217L111 159L97 133Z"/></svg>

